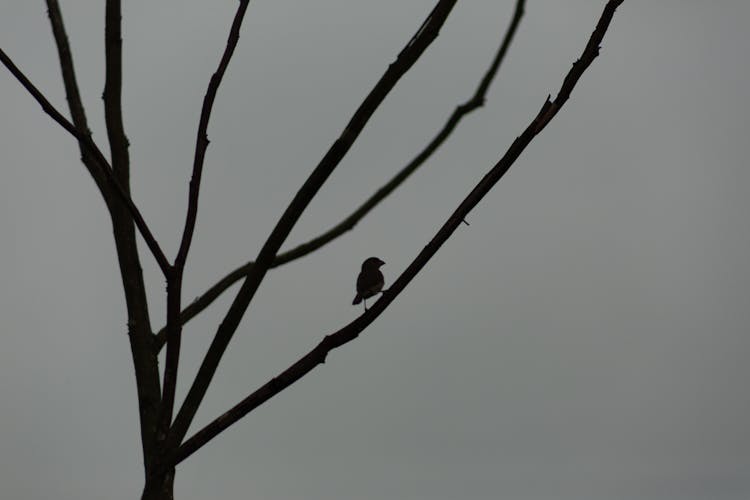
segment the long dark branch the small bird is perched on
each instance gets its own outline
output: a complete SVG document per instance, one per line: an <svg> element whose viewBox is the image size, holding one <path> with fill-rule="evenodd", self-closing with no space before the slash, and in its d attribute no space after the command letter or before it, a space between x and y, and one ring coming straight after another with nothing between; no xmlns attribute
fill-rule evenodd
<svg viewBox="0 0 750 500"><path fill-rule="evenodd" d="M542 106L542 109L526 127L523 133L508 148L505 155L492 167L492 169L479 181L476 187L469 193L458 208L453 212L448 221L440 228L433 239L417 255L414 261L406 270L396 279L391 287L383 293L381 298L370 307L362 316L358 317L340 330L327 335L320 344L313 350L300 358L296 363L291 365L277 377L271 379L261 388L250 394L232 409L215 419L206 427L198 431L190 439L185 441L179 447L177 453L171 458L172 466L179 464L187 457L195 453L199 448L216 437L224 429L228 428L239 419L247 415L253 409L257 408L273 396L283 391L291 384L305 376L317 365L325 362L330 351L340 347L359 336L359 334L393 302L393 300L403 291L419 271L427 264L438 249L445 243L453 232L462 224L464 218L469 212L484 198L487 193L497 184L505 175L511 165L516 161L520 154L532 139L541 132L542 129L554 117L556 112L562 107L570 96L578 79L588 68L591 62L599 54L599 44L609 27L617 7L623 0L610 0L604 8L601 18L594 30L589 43L581 55L581 58L571 68L565 77L562 88L557 98L551 102L549 98Z"/></svg>

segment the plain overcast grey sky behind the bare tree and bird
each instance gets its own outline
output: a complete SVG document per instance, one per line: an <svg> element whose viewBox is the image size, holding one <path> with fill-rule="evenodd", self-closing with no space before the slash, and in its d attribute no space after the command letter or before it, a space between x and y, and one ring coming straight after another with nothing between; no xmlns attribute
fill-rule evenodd
<svg viewBox="0 0 750 500"><path fill-rule="evenodd" d="M512 1L460 3L290 236L348 214L473 91ZM529 0L487 106L355 230L269 273L193 430L353 319L555 94L604 1ZM102 2L61 2L104 145ZM209 128L190 301L253 258L434 0L251 3ZM177 248L200 100L236 1L125 2L133 196ZM178 469L176 497L750 498L750 3L626 0L571 100L356 341ZM0 46L65 107L42 1ZM129 499L142 461L105 207L0 71L0 488ZM144 247L145 250L145 247ZM142 253L155 327L164 284ZM178 397L228 299L190 323Z"/></svg>

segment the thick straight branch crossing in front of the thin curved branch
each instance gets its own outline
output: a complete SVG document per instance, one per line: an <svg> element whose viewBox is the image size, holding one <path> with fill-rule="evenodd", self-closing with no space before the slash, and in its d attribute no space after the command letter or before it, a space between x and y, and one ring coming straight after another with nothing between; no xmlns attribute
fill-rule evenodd
<svg viewBox="0 0 750 500"><path fill-rule="evenodd" d="M203 358L198 374L185 397L179 413L175 417L168 438L168 449L179 445L187 433L188 427L193 421L193 417L198 411L201 401L203 401L211 379L216 373L219 361L229 345L229 341L237 330L242 316L255 295L260 282L271 267L276 253L284 243L284 240L315 194L341 162L360 132L362 132L365 124L383 102L390 90L396 85L401 76L414 65L432 41L435 40L440 27L445 23L448 14L450 14L455 4L456 0L440 0L436 4L417 34L409 40L409 43L401 51L396 61L388 67L385 74L354 113L354 116L347 124L341 136L333 143L284 211L271 235L261 248L258 257L255 259L255 265L240 287L229 311L219 325L211 346Z"/></svg>

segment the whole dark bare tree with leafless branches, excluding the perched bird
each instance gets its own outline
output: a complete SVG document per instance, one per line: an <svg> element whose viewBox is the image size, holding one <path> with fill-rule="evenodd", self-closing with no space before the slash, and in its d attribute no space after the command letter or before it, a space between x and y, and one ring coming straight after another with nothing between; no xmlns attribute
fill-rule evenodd
<svg viewBox="0 0 750 500"><path fill-rule="evenodd" d="M37 100L43 110L59 123L77 141L81 151L81 161L94 179L109 211L114 229L117 256L119 259L122 285L125 291L128 335L131 355L136 375L138 408L140 414L141 445L145 465L144 499L173 498L173 484L176 466L219 435L253 409L269 400L295 381L302 378L318 364L325 361L328 353L362 333L370 323L382 314L391 302L404 290L414 277L425 267L431 257L445 243L451 234L465 222L465 217L474 206L492 189L508 171L533 138L544 129L550 120L568 100L570 93L583 72L597 57L599 44L609 27L612 16L623 0L609 0L581 56L577 59L554 100L548 98L541 110L531 120L507 152L478 181L476 187L455 209L450 218L426 244L414 261L383 292L380 299L361 316L335 332L331 332L310 352L286 368L278 376L262 385L238 402L234 407L214 421L187 436L211 379L222 356L229 346L232 336L253 300L258 287L269 269L286 264L316 251L333 241L365 217L375 206L393 192L404 180L440 147L453 132L464 116L484 104L501 62L510 46L524 11L524 0L517 0L515 11L499 47L486 73L482 76L475 93L463 104L457 106L437 135L423 150L388 183L380 187L358 209L345 217L329 230L316 238L284 253L279 253L290 231L320 190L328 177L339 165L342 158L359 137L365 124L383 102L399 79L417 62L430 44L438 36L446 22L455 0L439 0L424 22L399 52L396 60L388 66L383 76L375 83L372 91L364 98L341 135L333 142L327 153L304 181L291 203L279 218L273 231L265 240L257 257L238 267L221 278L197 300L188 306L182 301L182 282L187 256L193 241L193 233L198 214L198 200L201 187L206 150L209 144L207 128L219 86L230 63L239 40L240 29L248 9L249 0L239 3L234 16L229 37L216 72L211 76L203 105L195 141L192 178L189 185L189 199L182 230L182 237L176 256L169 259L159 242L149 229L136 204L130 198L130 159L129 144L125 134L122 116L122 38L121 2L107 0L105 14L105 54L106 82L104 86L104 111L109 141L109 157L93 141L88 128L86 112L79 95L73 59L63 25L62 13L57 0L46 0L52 33L57 46L62 79L68 100L70 119L66 118L34 86L11 58L0 49L0 60ZM136 246L137 233L145 241L152 257L161 270L166 283L166 325L154 333L149 309L140 255ZM218 325L213 341L208 348L190 389L177 408L175 388L180 363L180 341L182 327L200 314L232 284L242 281L242 285L223 320ZM157 356L166 346L166 361L160 373Z"/></svg>

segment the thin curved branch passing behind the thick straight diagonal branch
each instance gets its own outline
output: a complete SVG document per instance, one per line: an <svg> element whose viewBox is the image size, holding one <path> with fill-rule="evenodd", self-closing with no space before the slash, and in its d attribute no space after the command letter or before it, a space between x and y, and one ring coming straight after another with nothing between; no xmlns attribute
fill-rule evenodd
<svg viewBox="0 0 750 500"><path fill-rule="evenodd" d="M273 260L271 268L281 266L293 260L299 259L308 255L315 250L323 247L327 243L335 240L339 236L343 235L347 231L350 231L362 220L372 209L374 209L381 201L383 201L389 194L396 190L411 174L413 174L420 166L422 166L432 155L437 151L438 148L445 142L445 140L453 133L453 130L458 126L464 116L468 115L475 109L484 105L487 90L489 89L492 80L495 78L497 71L505 58L505 54L510 47L510 43L513 40L518 24L523 17L524 7L526 0L517 0L513 18L511 19L510 26L503 36L503 40L500 47L495 54L495 57L487 69L486 73L480 80L479 86L477 87L474 95L464 102L463 104L456 107L453 113L450 115L443 128L435 135L435 137L425 146L422 151L416 155L405 167L401 169L391 180L384 184L378 189L372 196L370 196L357 210L352 212L344 220L330 228L328 231L321 235L311 239L306 243L302 243L291 250L280 253ZM200 314L204 309L210 306L214 300L216 300L221 294L226 291L237 281L246 277L253 266L253 262L248 262L238 267L219 282L205 291L197 299L195 299L189 306L187 306L180 313L180 321L184 325L195 316ZM157 334L154 341L154 345L157 350L161 350L167 339L167 329L162 328Z"/></svg>

